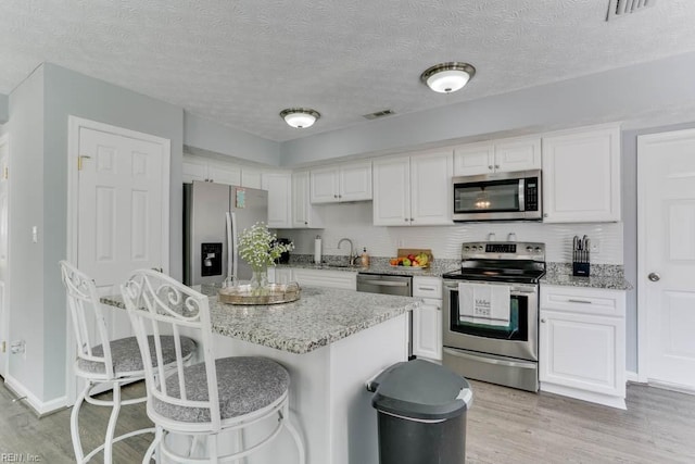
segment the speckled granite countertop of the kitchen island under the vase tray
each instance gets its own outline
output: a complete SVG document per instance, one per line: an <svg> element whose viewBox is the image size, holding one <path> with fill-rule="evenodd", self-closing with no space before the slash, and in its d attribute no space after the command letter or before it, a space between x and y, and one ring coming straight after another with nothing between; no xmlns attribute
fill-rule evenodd
<svg viewBox="0 0 695 464"><path fill-rule="evenodd" d="M204 291L205 292L205 291ZM121 296L101 301L125 309ZM413 311L421 300L304 287L294 302L232 305L210 296L213 333L290 353L303 354Z"/></svg>

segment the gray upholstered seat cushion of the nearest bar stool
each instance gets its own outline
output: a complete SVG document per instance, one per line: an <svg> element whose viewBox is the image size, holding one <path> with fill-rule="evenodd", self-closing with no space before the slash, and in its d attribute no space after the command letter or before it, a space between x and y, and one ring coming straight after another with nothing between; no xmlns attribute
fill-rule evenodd
<svg viewBox="0 0 695 464"><path fill-rule="evenodd" d="M222 419L237 417L261 410L288 390L290 375L275 361L258 356L233 356L215 360L217 389ZM189 401L207 401L205 364L199 363L185 368L186 391ZM178 397L178 375L166 379L166 392ZM174 421L200 423L210 422L206 407L182 406L152 399L154 411Z"/></svg>

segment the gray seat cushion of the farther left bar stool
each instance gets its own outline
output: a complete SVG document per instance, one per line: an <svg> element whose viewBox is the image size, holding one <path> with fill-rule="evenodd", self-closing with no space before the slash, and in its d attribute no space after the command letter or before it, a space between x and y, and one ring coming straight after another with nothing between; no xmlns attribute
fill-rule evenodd
<svg viewBox="0 0 695 464"><path fill-rule="evenodd" d="M150 339L150 350L152 353L152 362L156 367L156 355L154 353L154 341L152 336ZM135 337L119 338L110 342L111 346L111 359L113 361L113 371L117 376L143 371L142 356L140 355L140 347L138 347L138 340ZM181 337L181 354L187 358L195 351L195 341L192 338ZM92 348L92 354L96 356L103 356L104 349L101 344ZM176 361L176 351L174 346L173 336L162 337L162 354L164 356L165 364L169 364ZM79 359L77 361L77 368L83 372L92 374L105 374L104 363L99 361L88 361Z"/></svg>

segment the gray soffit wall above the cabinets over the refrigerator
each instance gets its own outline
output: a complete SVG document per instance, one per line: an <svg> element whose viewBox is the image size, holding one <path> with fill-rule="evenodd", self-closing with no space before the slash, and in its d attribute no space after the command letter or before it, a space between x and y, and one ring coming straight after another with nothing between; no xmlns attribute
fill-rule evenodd
<svg viewBox="0 0 695 464"><path fill-rule="evenodd" d="M184 143L256 163L277 166L280 162L280 143L190 113L184 116Z"/></svg>

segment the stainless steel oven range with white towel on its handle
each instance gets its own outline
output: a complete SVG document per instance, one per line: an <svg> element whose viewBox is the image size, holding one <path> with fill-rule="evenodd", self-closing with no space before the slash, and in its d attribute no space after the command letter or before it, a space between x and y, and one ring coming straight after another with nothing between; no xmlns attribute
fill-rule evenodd
<svg viewBox="0 0 695 464"><path fill-rule="evenodd" d="M442 363L468 378L538 391L539 280L544 274L544 243L463 243L460 269L442 276ZM485 303L462 298L470 289L508 296L506 319L468 316L471 304Z"/></svg>

